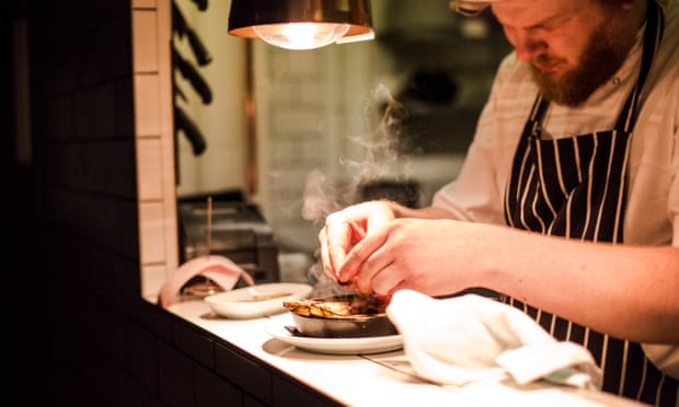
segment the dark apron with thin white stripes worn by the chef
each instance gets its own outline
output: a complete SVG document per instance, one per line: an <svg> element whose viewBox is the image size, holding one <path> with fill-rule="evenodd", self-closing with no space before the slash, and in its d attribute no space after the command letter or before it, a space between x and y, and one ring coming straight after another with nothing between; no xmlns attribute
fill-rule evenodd
<svg viewBox="0 0 679 407"><path fill-rule="evenodd" d="M549 101L537 96L505 190L508 225L567 239L623 242L630 140L663 25L660 8L649 1L640 77L613 130L542 140L541 123ZM638 344L603 335L516 299L505 301L523 310L559 340L587 347L603 371L605 392L658 406L679 406L678 381L656 369Z"/></svg>

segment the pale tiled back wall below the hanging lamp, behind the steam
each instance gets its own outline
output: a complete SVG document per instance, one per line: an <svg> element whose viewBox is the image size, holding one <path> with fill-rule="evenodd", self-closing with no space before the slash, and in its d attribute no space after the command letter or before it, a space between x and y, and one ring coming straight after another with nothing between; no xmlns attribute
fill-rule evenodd
<svg viewBox="0 0 679 407"><path fill-rule="evenodd" d="M327 214L366 164L375 129L376 88L388 63L373 42L290 51L255 44L258 195L284 248L312 253L320 218L304 219L309 177L321 174ZM379 119L379 118L378 118ZM354 165L358 164L358 165ZM394 174L395 176L395 174ZM349 190L348 194L352 191ZM336 195L340 195L337 197Z"/></svg>

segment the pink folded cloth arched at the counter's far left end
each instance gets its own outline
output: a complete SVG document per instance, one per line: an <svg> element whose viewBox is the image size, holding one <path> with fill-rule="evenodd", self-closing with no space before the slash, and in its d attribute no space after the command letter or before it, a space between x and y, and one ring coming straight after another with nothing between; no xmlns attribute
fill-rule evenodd
<svg viewBox="0 0 679 407"><path fill-rule="evenodd" d="M231 290L240 278L243 278L249 286L254 284L252 276L231 259L215 255L200 256L184 263L168 278L160 289L159 305L168 307L177 302L180 290L194 276L205 276L225 291Z"/></svg>

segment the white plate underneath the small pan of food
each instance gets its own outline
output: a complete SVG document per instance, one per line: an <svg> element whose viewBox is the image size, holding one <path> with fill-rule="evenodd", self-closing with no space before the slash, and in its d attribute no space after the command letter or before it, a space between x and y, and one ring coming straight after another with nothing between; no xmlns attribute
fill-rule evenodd
<svg viewBox="0 0 679 407"><path fill-rule="evenodd" d="M381 353L403 347L401 335L376 336L369 338L312 338L292 335L277 321L269 321L264 330L288 345L317 353L368 354Z"/></svg>

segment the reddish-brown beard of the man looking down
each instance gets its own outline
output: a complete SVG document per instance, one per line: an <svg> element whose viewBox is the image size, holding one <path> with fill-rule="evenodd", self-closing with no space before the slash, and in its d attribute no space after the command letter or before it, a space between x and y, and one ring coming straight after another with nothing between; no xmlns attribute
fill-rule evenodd
<svg viewBox="0 0 679 407"><path fill-rule="evenodd" d="M602 25L589 37L578 66L565 72L560 79L552 80L549 73L538 70L531 65L533 79L540 91L549 100L560 105L579 106L624 62L631 44L619 27L606 30ZM549 63L550 57L542 55L538 61Z"/></svg>

